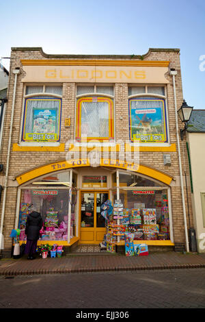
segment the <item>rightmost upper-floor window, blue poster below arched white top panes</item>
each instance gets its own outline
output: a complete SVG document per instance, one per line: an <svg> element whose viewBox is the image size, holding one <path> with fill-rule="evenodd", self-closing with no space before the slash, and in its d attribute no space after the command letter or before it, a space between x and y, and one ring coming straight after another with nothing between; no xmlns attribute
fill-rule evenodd
<svg viewBox="0 0 205 322"><path fill-rule="evenodd" d="M164 86L128 88L129 125L132 142L167 143Z"/></svg>

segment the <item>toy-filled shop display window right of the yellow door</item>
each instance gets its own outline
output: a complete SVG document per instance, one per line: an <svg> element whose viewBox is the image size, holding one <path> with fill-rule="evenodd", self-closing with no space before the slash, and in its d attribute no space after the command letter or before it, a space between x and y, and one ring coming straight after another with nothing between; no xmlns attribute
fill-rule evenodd
<svg viewBox="0 0 205 322"><path fill-rule="evenodd" d="M113 190L113 202L117 199ZM120 189L123 219L134 240L169 240L169 204L167 189ZM122 237L123 238L123 237Z"/></svg>

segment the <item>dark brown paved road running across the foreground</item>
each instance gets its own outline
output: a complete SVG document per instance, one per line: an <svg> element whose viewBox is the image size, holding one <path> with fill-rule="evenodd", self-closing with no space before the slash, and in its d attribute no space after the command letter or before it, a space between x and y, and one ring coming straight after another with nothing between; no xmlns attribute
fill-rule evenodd
<svg viewBox="0 0 205 322"><path fill-rule="evenodd" d="M2 275L0 290L0 308L74 308L75 312L66 312L69 318L76 318L77 312L88 309L94 312L94 309L106 308L109 312L126 308L205 308L205 269L17 275L12 278ZM46 314L49 312L53 314L50 310ZM139 313L131 311L131 317L136 319ZM144 312L146 317L149 313ZM167 319L167 312L163 313L163 318ZM152 312L150 318L154 315L162 317L160 312Z"/></svg>

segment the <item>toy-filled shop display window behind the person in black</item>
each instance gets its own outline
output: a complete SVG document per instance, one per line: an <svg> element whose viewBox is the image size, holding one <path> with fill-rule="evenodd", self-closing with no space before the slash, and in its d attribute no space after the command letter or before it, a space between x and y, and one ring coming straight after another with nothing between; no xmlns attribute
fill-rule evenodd
<svg viewBox="0 0 205 322"><path fill-rule="evenodd" d="M31 203L43 219L40 240L68 240L69 190L47 187L22 190L18 222L20 240L25 238L25 224ZM75 204L73 203L70 237L74 236L75 218Z"/></svg>

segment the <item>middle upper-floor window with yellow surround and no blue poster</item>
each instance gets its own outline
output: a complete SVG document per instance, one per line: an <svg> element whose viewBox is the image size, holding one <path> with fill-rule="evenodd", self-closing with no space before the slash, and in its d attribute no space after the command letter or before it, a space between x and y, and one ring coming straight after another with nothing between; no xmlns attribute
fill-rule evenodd
<svg viewBox="0 0 205 322"><path fill-rule="evenodd" d="M113 140L113 114L113 86L77 86L76 140Z"/></svg>

